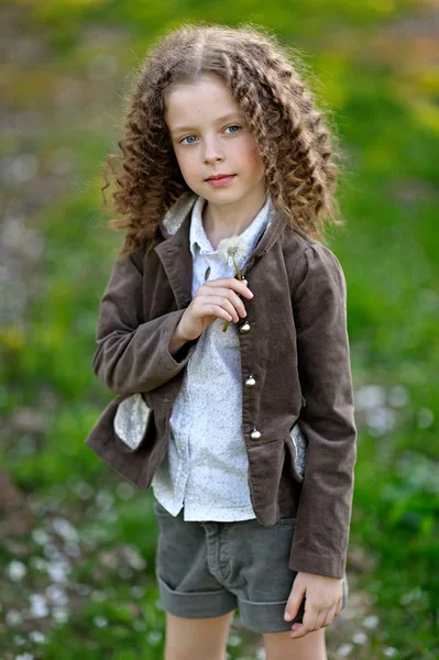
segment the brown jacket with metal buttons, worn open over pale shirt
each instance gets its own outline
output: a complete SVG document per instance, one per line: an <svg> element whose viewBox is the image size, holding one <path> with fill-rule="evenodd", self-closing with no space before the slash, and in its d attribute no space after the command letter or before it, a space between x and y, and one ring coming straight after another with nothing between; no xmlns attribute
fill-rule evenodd
<svg viewBox="0 0 439 660"><path fill-rule="evenodd" d="M168 350L191 300L196 199L186 194L166 213L160 243L147 255L144 242L116 261L99 307L92 370L118 396L85 442L143 492L167 450L173 404L198 342L174 355ZM241 271L254 294L238 321L251 502L264 526L297 518L293 571L342 578L356 462L345 278L326 245L272 212ZM134 422L123 417L123 402L135 413L131 446L123 425ZM290 436L296 422L307 440L301 473Z"/></svg>

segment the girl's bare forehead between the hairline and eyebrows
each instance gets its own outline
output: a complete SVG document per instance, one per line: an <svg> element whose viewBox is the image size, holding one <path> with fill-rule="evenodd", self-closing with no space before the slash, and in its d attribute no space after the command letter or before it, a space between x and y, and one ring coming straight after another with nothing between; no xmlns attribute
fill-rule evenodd
<svg viewBox="0 0 439 660"><path fill-rule="evenodd" d="M190 122L215 121L239 113L232 95L217 76L204 74L195 82L174 85L166 96L165 119L171 129Z"/></svg>

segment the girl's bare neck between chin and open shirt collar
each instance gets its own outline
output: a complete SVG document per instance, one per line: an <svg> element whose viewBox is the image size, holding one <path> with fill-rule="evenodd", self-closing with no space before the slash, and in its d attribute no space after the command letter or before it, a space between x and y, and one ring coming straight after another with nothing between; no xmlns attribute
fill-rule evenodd
<svg viewBox="0 0 439 660"><path fill-rule="evenodd" d="M242 234L253 222L266 202L266 191L243 198L235 204L205 204L202 209L202 227L213 250L222 239Z"/></svg>

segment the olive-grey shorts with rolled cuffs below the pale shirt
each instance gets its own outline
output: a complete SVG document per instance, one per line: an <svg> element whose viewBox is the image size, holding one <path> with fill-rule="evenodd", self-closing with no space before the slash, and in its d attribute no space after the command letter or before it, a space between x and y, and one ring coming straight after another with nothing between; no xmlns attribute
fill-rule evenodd
<svg viewBox="0 0 439 660"><path fill-rule="evenodd" d="M160 535L155 573L162 605L185 618L222 616L239 608L243 626L254 632L290 630L303 623L284 620L296 571L288 568L296 518L265 527L253 518L233 522L184 520L154 498ZM343 575L342 609L348 605Z"/></svg>

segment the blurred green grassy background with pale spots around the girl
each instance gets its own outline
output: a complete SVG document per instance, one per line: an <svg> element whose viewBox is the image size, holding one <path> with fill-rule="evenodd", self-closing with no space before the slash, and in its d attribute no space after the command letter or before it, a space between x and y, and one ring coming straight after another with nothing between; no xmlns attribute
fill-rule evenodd
<svg viewBox="0 0 439 660"><path fill-rule="evenodd" d="M84 440L122 241L101 167L128 75L180 21L251 21L304 53L347 172L329 246L348 282L359 428L349 607L330 659L439 657L439 2L0 4L0 658L158 660L153 496ZM110 209L111 211L111 209ZM228 660L263 660L239 613Z"/></svg>

